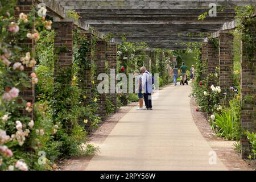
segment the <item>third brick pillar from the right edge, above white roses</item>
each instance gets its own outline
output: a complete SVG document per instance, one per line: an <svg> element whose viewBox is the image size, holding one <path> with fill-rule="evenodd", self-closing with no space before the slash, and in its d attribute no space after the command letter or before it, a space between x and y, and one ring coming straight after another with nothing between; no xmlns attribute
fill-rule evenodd
<svg viewBox="0 0 256 182"><path fill-rule="evenodd" d="M213 40L208 41L208 73L216 73L216 67L218 67L219 64L219 57L218 57L219 49L217 45L214 45ZM214 77L215 78L215 77ZM212 85L218 83L215 83L214 80L210 79L208 80L208 85Z"/></svg>

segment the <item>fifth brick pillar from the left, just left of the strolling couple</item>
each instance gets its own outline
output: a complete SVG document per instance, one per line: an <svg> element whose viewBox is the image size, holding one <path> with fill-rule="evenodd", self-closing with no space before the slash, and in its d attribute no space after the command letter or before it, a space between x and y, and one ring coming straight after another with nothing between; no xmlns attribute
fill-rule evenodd
<svg viewBox="0 0 256 182"><path fill-rule="evenodd" d="M114 88L116 85L115 76L117 75L117 43L109 43L107 48L107 55L108 55L108 73L110 76L110 69L114 69L114 82L112 83L111 76L110 76L110 87L109 87L109 98L112 104L115 106L115 111L117 111L117 93L111 93L110 88L114 84ZM115 91L115 89L114 89Z"/></svg>

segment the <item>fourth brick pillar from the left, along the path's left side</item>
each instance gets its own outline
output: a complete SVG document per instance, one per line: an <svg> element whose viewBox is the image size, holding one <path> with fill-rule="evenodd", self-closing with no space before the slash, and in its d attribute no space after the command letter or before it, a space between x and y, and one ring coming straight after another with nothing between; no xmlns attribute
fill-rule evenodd
<svg viewBox="0 0 256 182"><path fill-rule="evenodd" d="M104 40L98 40L96 43L95 50L95 64L97 65L96 77L100 73L105 73L105 61L106 61L106 42ZM100 83L101 81L96 81ZM101 120L104 121L106 119L106 94L100 94L100 100L97 101L99 105L98 114L101 117Z"/></svg>

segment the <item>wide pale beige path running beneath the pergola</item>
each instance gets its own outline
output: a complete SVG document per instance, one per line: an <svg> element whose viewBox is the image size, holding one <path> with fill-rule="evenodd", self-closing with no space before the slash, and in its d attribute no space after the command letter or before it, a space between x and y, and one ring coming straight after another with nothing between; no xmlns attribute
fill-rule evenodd
<svg viewBox="0 0 256 182"><path fill-rule="evenodd" d="M100 153L74 160L64 170L227 170L201 135L191 115L191 86L167 86L160 90L154 110L133 106L116 123L100 146ZM77 167L79 166L79 167Z"/></svg>

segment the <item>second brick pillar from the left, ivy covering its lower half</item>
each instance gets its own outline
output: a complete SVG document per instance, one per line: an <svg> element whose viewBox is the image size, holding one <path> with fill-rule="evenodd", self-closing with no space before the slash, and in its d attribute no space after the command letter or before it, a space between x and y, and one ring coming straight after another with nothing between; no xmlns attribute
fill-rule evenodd
<svg viewBox="0 0 256 182"><path fill-rule="evenodd" d="M60 100L66 97L69 90L71 90L72 84L72 62L73 62L73 22L55 21L53 24L55 29L55 85L56 89L53 92L53 97L56 100ZM53 105L55 107L55 105ZM67 103L65 109L72 108L72 103ZM53 118L57 118L59 114L59 108L56 105L55 115ZM62 111L61 111L62 112ZM61 113L62 114L62 113ZM68 129L68 133L71 134L72 121L63 121L65 128Z"/></svg>

